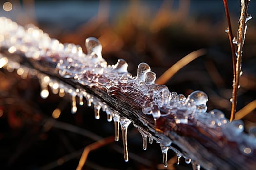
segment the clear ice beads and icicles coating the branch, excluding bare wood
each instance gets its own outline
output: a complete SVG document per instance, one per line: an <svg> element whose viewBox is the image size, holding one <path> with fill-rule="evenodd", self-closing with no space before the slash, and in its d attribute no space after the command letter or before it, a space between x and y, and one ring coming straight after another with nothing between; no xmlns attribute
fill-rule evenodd
<svg viewBox="0 0 256 170"><path fill-rule="evenodd" d="M106 89L109 95L114 95L113 92L117 90L122 93L140 94L145 101L141 103L141 111L146 115L152 115L155 120L170 114L174 115L177 124L188 124L189 119L196 119L199 122L198 126L203 123L210 128L220 128L230 141L240 143L242 146L241 152L244 154L249 155L256 148L255 134L245 134L242 121L229 123L228 119L219 110L206 112L208 97L204 92L194 91L187 98L184 95L178 95L176 92L170 92L166 86L155 84L156 74L151 71L146 63L139 64L137 75L132 76L127 71L128 64L122 59L118 60L115 65L107 64L101 56L102 46L96 38L86 39L85 45L87 54L83 53L80 46L61 44L58 40L51 39L48 34L35 26L29 26L24 29L10 19L0 17L0 47L7 47L9 53L23 53L26 57L35 60L40 60L42 57L52 58L57 63L56 68L59 71L59 75L63 78L75 79L81 85L89 87L101 86ZM59 57L54 58L56 55ZM23 78L26 78L27 74L38 76L42 89L42 98L48 97L49 86L54 94L59 94L61 97L65 93L70 95L72 113L77 111L76 98L79 98L80 105L84 104L84 98L88 106L93 104L96 119L100 118L100 109L105 111L107 120L114 121L116 141L119 140L119 124L121 126L124 159L128 161L127 128L131 120L121 117L114 108L110 108L105 102L87 93L84 89L74 89L56 81L54 78L20 66L19 63L8 61L6 57L0 56L0 62L3 59L5 59L6 65L4 67L7 70L17 70L17 73ZM162 114L161 109L166 112ZM134 124L134 126L138 128L142 135L144 149L147 147L147 138L149 143L152 143L154 139L160 144L164 166L167 166L168 149L172 149L177 153L177 164L179 164L179 159L182 156L186 159L186 163L191 162L190 158L182 155L181 152L171 146L170 139L157 139L137 125ZM193 169L200 169L200 165L196 163L196 160L192 160L192 165Z"/></svg>

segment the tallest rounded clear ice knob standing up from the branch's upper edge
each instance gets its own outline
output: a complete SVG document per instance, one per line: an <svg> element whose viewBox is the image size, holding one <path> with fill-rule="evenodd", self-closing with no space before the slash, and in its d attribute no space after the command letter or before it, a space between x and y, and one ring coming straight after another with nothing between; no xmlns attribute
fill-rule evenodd
<svg viewBox="0 0 256 170"><path fill-rule="evenodd" d="M91 55L92 53L96 54L97 57L102 58L101 56L101 51L102 51L102 46L98 39L94 37L89 37L85 40L85 46L87 49L87 54Z"/></svg>

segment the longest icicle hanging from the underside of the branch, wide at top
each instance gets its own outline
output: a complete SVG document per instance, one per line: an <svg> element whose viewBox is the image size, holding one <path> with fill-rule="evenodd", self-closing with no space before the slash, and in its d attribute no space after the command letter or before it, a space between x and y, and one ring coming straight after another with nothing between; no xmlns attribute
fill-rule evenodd
<svg viewBox="0 0 256 170"><path fill-rule="evenodd" d="M123 139L123 152L124 152L124 161L128 162L128 147L127 147L127 130L128 126L131 123L131 120L127 118L120 117L120 125L122 130L122 139Z"/></svg>

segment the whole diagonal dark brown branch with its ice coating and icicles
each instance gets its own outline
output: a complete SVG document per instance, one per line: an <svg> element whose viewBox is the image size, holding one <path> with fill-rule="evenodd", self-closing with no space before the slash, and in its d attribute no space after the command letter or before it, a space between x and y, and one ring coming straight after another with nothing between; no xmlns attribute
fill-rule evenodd
<svg viewBox="0 0 256 170"><path fill-rule="evenodd" d="M136 76L120 59L108 65L101 56L101 44L95 38L86 39L87 54L80 46L61 44L42 30L27 29L11 20L0 18L0 67L17 70L23 77L35 75L41 84L41 96L47 98L48 86L53 93L68 93L71 112L77 101L93 104L95 118L99 110L115 123L115 140L121 126L124 158L128 161L127 127L133 123L143 138L143 148L156 140L160 144L164 164L167 151L177 153L193 169L200 165L209 170L253 170L256 167L256 138L243 132L241 121L225 118L219 110L207 111L207 95L194 91L187 98L155 84L156 74L146 63L138 66Z"/></svg>

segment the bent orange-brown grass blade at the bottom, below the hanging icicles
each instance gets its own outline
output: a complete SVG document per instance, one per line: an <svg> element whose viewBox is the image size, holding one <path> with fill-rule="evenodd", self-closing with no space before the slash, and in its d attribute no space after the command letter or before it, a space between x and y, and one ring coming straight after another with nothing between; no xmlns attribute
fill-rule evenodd
<svg viewBox="0 0 256 170"><path fill-rule="evenodd" d="M93 151L95 149L98 149L104 145L107 145L109 143L113 143L115 140L114 140L114 136L110 136L108 138L104 138L102 140L99 140L97 142L94 142L88 146L86 146L83 150L83 153L82 153L82 156L80 158L80 161L79 161L79 164L78 164L78 167L76 170L82 170L83 168L83 165L85 164L86 160L87 160L87 157L88 157L88 154L90 151Z"/></svg>

